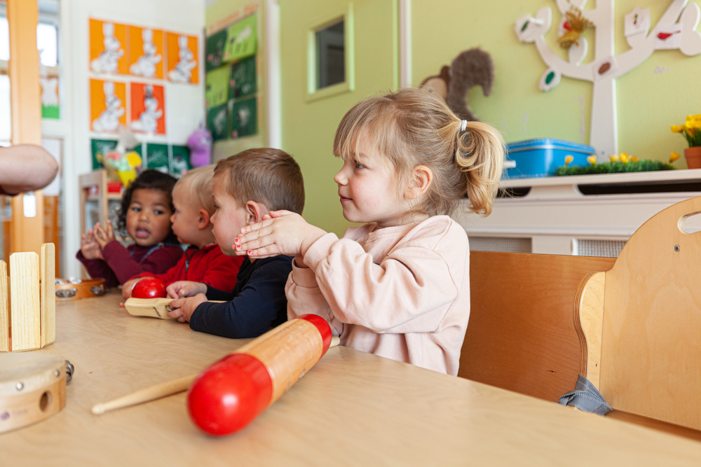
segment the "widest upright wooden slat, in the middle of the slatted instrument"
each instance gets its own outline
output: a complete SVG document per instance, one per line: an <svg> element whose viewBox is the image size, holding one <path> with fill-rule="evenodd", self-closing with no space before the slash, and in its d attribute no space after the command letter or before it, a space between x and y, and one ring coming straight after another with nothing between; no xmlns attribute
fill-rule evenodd
<svg viewBox="0 0 701 467"><path fill-rule="evenodd" d="M10 296L12 351L39 349L39 255L34 251L10 255Z"/></svg>

